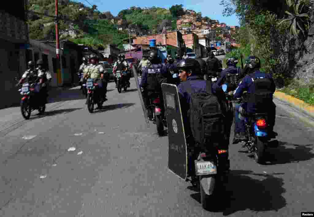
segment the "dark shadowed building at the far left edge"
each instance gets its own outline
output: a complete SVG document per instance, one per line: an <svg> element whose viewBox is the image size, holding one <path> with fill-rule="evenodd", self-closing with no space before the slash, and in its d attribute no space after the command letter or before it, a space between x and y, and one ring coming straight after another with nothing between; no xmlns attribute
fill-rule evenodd
<svg viewBox="0 0 314 217"><path fill-rule="evenodd" d="M0 8L0 91L4 94L0 108L19 105L20 102L21 95L14 78L21 78L26 70L26 48L30 46L26 5L26 0L8 1Z"/></svg>

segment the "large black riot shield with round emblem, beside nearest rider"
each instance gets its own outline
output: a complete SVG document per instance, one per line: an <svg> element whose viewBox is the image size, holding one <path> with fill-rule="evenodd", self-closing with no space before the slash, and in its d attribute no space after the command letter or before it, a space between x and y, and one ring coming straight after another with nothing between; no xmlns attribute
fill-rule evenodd
<svg viewBox="0 0 314 217"><path fill-rule="evenodd" d="M176 85L161 85L168 124L169 169L182 179L187 178L187 142Z"/></svg>

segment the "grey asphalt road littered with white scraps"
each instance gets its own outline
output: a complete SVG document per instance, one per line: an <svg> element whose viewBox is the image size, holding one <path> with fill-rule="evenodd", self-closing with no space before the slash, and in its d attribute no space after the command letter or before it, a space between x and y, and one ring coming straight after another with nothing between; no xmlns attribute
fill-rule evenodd
<svg viewBox="0 0 314 217"><path fill-rule="evenodd" d="M208 212L199 193L168 168L168 139L146 128L134 78L108 85L104 109L89 114L80 90L50 99L45 116L0 110L0 216L300 216L313 208L313 127L277 106L279 147L257 165L231 145L225 210ZM279 103L279 102L278 102ZM284 109L283 109L284 108ZM232 138L230 138L232 140ZM68 151L75 147L75 151Z"/></svg>

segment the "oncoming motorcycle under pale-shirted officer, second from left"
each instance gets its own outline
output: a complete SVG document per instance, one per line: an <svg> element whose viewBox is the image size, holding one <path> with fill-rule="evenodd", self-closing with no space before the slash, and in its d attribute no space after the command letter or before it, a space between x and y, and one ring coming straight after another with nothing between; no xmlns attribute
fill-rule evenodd
<svg viewBox="0 0 314 217"><path fill-rule="evenodd" d="M100 94L100 87L98 87L97 81L99 81L100 78L92 79L89 78L86 81L86 88L87 88L87 109L89 113L94 112L94 104L97 104L97 106L100 108L103 104L103 100L101 99Z"/></svg>

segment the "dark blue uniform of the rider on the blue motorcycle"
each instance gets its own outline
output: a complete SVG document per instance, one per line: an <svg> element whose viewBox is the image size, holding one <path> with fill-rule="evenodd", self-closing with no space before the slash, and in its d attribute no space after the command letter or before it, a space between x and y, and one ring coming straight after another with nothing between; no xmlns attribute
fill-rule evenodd
<svg viewBox="0 0 314 217"><path fill-rule="evenodd" d="M248 94L254 93L255 92L255 86L253 84L253 80L257 78L269 78L273 82L273 77L270 74L263 73L261 71L255 71L253 74L246 75L242 83L238 86L236 89L236 92L234 94L235 98L241 98L243 91L247 91ZM273 93L276 90L276 86L273 83L272 94L269 96L269 99L272 101L273 100ZM276 106L274 103L272 105L265 105L263 108L258 108L257 105L253 102L248 102L248 103L242 103L241 105L236 106L236 112L235 112L235 119L236 119L236 132L245 132L245 124L244 120L239 119L239 107L242 106L243 109L245 109L246 112L248 113L254 113L254 112L268 112L269 113L269 121L268 123L273 127L274 122L275 122L275 112L276 112Z"/></svg>

